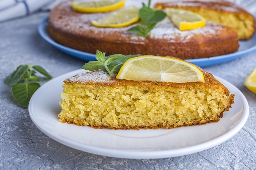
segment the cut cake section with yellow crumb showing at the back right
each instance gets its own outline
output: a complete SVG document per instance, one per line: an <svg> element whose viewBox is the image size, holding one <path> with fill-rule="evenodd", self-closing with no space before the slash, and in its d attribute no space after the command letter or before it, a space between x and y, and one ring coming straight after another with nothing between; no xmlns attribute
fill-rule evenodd
<svg viewBox="0 0 256 170"><path fill-rule="evenodd" d="M206 20L236 29L239 40L249 40L255 33L254 16L239 5L226 0L168 0L155 3L155 8L192 11Z"/></svg>

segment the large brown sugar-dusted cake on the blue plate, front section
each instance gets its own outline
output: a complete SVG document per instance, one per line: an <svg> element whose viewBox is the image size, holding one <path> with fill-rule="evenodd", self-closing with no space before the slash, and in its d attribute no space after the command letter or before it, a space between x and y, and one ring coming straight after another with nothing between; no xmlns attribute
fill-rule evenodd
<svg viewBox="0 0 256 170"><path fill-rule="evenodd" d="M146 3L146 0L141 2ZM131 6L140 8L141 2L126 0L124 8ZM152 6L156 2L161 1L152 1ZM93 20L99 20L110 13L80 13L72 9L72 0L67 0L50 12L49 35L56 42L72 49L88 53L95 53L99 49L105 51L107 55L118 53L129 55L132 52L132 54L195 59L238 51L237 31L210 21L201 28L180 31L166 17L157 23L146 37L127 31L138 23L119 28L92 25Z"/></svg>

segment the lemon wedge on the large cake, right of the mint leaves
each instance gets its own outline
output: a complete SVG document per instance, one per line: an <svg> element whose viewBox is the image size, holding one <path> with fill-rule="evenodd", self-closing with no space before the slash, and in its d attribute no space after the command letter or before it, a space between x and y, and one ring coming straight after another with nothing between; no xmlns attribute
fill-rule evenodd
<svg viewBox="0 0 256 170"><path fill-rule="evenodd" d="M181 31L205 26L205 19L190 11L166 8L166 15Z"/></svg>

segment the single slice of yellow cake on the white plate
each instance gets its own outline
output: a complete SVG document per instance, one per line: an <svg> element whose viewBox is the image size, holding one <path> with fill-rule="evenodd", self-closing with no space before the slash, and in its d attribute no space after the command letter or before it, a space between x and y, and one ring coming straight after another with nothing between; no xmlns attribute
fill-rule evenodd
<svg viewBox="0 0 256 170"><path fill-rule="evenodd" d="M129 81L102 70L74 75L63 84L59 121L109 129L217 122L231 108L234 95L213 75L202 73L204 82L187 83Z"/></svg>

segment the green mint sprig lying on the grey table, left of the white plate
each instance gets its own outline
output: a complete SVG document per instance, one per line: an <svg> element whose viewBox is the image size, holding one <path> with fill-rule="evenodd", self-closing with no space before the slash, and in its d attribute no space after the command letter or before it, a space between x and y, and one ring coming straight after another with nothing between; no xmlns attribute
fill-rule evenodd
<svg viewBox="0 0 256 170"><path fill-rule="evenodd" d="M29 105L29 100L35 91L40 87L41 77L37 73L44 75L44 79L51 79L52 76L38 65L20 65L11 75L6 77L7 86L12 87L12 94L18 104L24 108Z"/></svg>

